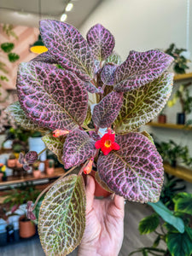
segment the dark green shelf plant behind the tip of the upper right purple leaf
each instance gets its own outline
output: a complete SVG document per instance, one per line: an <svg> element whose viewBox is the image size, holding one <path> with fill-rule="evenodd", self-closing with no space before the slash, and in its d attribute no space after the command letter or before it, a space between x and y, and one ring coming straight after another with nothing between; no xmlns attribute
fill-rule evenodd
<svg viewBox="0 0 192 256"><path fill-rule="evenodd" d="M189 68L187 66L189 60L183 56L184 51L186 51L186 49L177 49L175 44L170 44L169 48L165 50L166 54L174 58L173 69L175 73L186 73L185 70Z"/></svg>

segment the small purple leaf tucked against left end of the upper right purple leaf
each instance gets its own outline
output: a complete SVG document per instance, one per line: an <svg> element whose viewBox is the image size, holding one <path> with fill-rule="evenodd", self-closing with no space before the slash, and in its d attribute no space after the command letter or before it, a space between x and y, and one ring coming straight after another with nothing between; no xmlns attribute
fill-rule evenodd
<svg viewBox="0 0 192 256"><path fill-rule="evenodd" d="M103 84L114 84L114 73L116 68L117 66L111 64L107 64L102 68L101 79Z"/></svg>

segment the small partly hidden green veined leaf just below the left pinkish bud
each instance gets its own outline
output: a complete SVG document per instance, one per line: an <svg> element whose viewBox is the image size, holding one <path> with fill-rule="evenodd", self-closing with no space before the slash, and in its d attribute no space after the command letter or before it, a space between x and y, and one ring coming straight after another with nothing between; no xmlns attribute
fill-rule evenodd
<svg viewBox="0 0 192 256"><path fill-rule="evenodd" d="M53 137L52 134L47 134L42 137L42 140L47 148L49 148L50 151L56 154L57 159L61 162L61 164L63 164L61 156L63 154L63 144L65 143L66 137Z"/></svg>

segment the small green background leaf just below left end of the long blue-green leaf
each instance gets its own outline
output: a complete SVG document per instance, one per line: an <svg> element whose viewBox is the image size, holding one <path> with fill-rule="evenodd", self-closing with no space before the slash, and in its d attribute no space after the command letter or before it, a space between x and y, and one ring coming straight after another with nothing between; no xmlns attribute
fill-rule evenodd
<svg viewBox="0 0 192 256"><path fill-rule="evenodd" d="M146 218L143 218L139 222L140 234L143 235L143 234L149 234L153 232L154 230L156 230L159 224L160 224L160 218L156 213Z"/></svg>

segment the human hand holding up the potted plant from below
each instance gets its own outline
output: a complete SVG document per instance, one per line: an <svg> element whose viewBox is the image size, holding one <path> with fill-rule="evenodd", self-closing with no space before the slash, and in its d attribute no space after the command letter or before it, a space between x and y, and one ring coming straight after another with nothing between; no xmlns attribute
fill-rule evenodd
<svg viewBox="0 0 192 256"><path fill-rule="evenodd" d="M124 198L94 199L95 181L87 176L86 226L79 256L117 256L124 234Z"/></svg>

